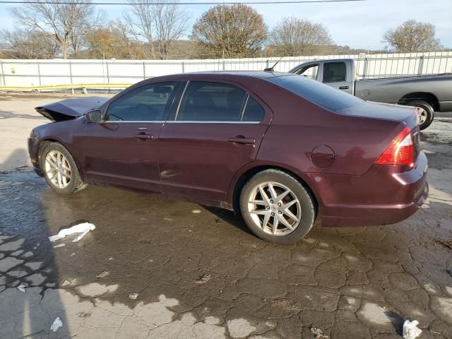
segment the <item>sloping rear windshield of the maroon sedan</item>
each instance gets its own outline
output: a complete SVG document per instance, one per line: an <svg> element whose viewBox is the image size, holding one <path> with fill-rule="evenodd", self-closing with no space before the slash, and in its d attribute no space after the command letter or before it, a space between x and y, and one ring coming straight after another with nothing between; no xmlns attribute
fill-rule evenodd
<svg viewBox="0 0 452 339"><path fill-rule="evenodd" d="M302 76L278 76L269 78L268 81L333 112L338 112L364 102L353 95L343 93L340 90L335 90L327 85L323 85L323 83Z"/></svg>

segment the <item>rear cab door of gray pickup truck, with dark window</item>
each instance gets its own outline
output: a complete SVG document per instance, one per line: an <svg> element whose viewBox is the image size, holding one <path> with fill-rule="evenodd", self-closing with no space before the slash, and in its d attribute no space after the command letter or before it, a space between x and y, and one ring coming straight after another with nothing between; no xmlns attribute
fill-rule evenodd
<svg viewBox="0 0 452 339"><path fill-rule="evenodd" d="M345 61L324 61L322 82L345 93L352 94L352 82L355 81Z"/></svg>

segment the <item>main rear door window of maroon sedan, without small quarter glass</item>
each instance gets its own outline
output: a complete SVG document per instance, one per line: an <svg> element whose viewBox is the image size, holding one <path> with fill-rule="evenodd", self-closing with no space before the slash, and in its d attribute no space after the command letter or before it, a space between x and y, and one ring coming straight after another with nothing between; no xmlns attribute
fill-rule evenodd
<svg viewBox="0 0 452 339"><path fill-rule="evenodd" d="M191 81L182 97L177 121L240 121L246 93L227 83Z"/></svg>

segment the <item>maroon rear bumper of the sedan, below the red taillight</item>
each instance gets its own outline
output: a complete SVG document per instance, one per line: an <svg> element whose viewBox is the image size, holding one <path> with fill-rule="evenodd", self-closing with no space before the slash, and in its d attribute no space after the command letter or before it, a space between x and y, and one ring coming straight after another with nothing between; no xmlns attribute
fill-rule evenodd
<svg viewBox="0 0 452 339"><path fill-rule="evenodd" d="M388 225L410 217L427 199L427 157L415 168L374 165L362 176L314 174L323 227ZM311 186L313 187L313 186Z"/></svg>

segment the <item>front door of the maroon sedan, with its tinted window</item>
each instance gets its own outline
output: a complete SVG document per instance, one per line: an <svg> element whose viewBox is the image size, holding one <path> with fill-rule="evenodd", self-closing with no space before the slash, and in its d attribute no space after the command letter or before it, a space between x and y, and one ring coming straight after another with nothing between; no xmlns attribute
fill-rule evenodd
<svg viewBox="0 0 452 339"><path fill-rule="evenodd" d="M160 191L157 139L177 83L131 90L107 107L100 124L84 124L78 145L93 182Z"/></svg>

